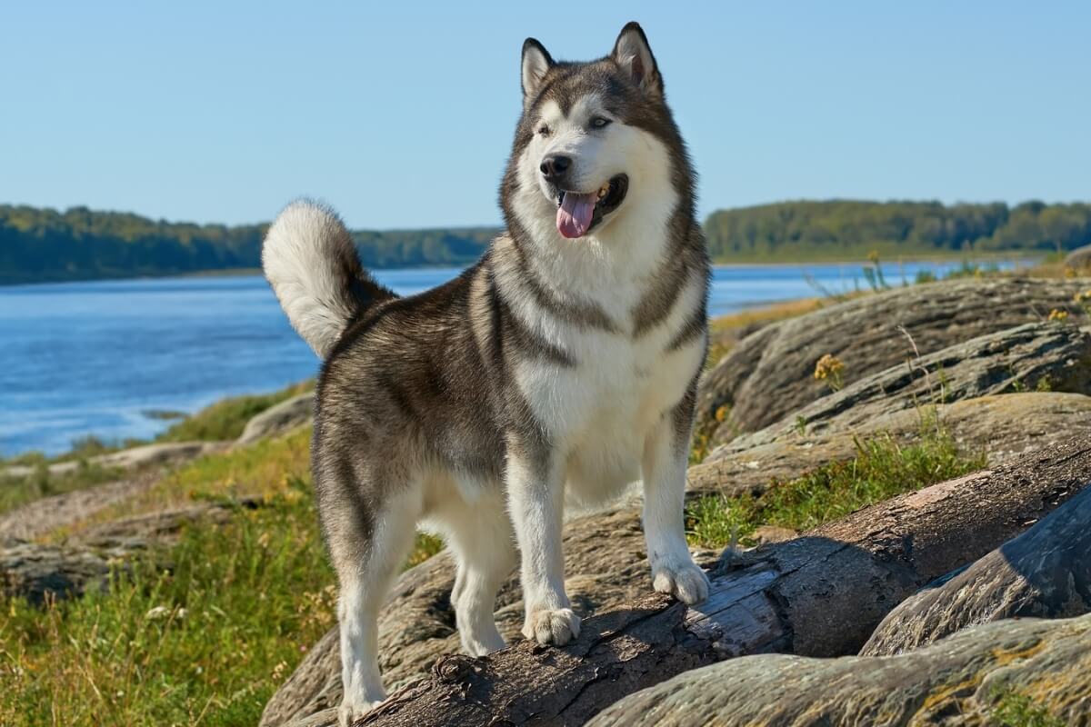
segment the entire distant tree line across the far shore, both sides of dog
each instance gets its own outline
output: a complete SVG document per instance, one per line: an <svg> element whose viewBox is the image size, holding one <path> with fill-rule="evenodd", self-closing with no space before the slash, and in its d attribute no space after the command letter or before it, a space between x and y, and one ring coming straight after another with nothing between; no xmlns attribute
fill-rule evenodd
<svg viewBox="0 0 1091 727"><path fill-rule="evenodd" d="M227 227L127 213L0 205L0 283L256 268L266 225ZM465 266L495 228L356 231L369 267ZM1091 205L1028 202L784 202L716 211L718 262L781 262L987 252L1040 254L1091 244Z"/></svg>

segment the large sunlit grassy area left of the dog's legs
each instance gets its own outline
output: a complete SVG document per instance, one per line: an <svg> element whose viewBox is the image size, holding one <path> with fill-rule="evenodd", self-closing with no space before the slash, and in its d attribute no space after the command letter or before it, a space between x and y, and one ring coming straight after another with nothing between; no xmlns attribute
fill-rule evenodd
<svg viewBox="0 0 1091 727"><path fill-rule="evenodd" d="M107 593L45 611L0 597L0 724L256 724L334 623L335 579L311 497L308 440L301 432L195 460L95 516L242 495L263 501L240 508L227 525L188 528L177 544L115 577ZM441 545L418 536L409 565Z"/></svg>

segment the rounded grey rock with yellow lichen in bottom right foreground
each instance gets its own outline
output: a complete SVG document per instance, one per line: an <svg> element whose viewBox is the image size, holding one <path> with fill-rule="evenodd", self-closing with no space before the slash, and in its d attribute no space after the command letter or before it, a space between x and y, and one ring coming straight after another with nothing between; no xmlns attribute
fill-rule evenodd
<svg viewBox="0 0 1091 727"><path fill-rule="evenodd" d="M588 727L1053 724L994 720L1004 695L1058 724L1091 715L1091 616L987 623L892 658L747 656L686 671L607 707ZM790 684L790 688L787 686Z"/></svg>

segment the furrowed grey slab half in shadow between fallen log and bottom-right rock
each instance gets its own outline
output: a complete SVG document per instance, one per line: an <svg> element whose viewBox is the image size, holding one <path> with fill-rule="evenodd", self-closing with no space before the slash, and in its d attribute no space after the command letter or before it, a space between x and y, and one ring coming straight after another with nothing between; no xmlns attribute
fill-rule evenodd
<svg viewBox="0 0 1091 727"><path fill-rule="evenodd" d="M1091 488L968 568L903 601L860 653L899 654L968 626L1005 618L1065 618L1088 611Z"/></svg>

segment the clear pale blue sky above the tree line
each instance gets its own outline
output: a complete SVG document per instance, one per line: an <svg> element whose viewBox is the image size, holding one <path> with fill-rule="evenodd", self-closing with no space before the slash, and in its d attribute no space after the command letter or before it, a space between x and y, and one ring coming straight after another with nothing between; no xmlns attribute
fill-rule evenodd
<svg viewBox="0 0 1091 727"><path fill-rule="evenodd" d="M0 14L0 202L493 225L519 48L639 21L700 209L1091 198L1091 3L51 2Z"/></svg>

